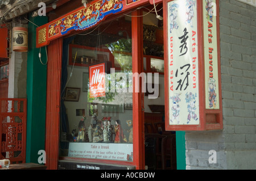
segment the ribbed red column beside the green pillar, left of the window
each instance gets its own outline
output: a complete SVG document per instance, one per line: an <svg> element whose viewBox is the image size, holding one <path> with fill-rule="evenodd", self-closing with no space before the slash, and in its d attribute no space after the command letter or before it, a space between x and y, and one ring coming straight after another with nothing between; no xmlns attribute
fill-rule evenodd
<svg viewBox="0 0 256 181"><path fill-rule="evenodd" d="M60 89L63 38L48 45L46 92L46 165L57 169L59 159Z"/></svg>

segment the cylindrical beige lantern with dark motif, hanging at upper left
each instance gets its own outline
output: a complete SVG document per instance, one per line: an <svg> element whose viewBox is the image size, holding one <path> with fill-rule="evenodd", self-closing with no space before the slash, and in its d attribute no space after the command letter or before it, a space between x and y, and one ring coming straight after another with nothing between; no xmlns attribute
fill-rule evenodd
<svg viewBox="0 0 256 181"><path fill-rule="evenodd" d="M28 32L27 28L13 28L13 50L15 52L27 52L28 50Z"/></svg>

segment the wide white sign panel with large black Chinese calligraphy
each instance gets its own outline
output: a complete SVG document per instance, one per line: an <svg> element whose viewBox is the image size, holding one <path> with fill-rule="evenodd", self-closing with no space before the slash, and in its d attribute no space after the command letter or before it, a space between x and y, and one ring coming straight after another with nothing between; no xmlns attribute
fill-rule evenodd
<svg viewBox="0 0 256 181"><path fill-rule="evenodd" d="M199 125L196 0L167 2L169 124Z"/></svg>

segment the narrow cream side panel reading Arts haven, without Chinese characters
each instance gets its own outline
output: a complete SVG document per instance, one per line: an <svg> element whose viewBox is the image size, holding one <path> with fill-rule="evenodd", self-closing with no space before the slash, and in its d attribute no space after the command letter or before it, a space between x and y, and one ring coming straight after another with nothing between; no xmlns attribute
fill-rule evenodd
<svg viewBox="0 0 256 181"><path fill-rule="evenodd" d="M205 108L219 109L216 0L203 0Z"/></svg>

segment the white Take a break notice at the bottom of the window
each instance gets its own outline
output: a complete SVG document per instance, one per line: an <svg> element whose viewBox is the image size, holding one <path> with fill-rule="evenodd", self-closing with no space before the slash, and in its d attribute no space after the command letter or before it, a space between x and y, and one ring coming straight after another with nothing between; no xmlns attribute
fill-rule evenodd
<svg viewBox="0 0 256 181"><path fill-rule="evenodd" d="M68 157L133 161L133 144L70 142Z"/></svg>

